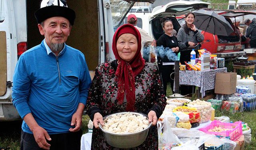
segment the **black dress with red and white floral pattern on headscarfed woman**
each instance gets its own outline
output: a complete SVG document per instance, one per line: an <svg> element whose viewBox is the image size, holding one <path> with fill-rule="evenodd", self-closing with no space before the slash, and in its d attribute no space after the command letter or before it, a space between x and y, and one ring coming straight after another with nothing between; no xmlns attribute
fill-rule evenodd
<svg viewBox="0 0 256 150"><path fill-rule="evenodd" d="M95 71L94 79L89 90L86 109L93 120L94 114L100 112L102 116L116 112L126 111L126 98L124 102L118 104L117 80L115 76L117 61L100 64ZM166 106L166 98L159 72L154 64L146 63L144 69L135 77L135 111L148 114L150 110L156 112L159 118ZM119 150L110 146L104 139L103 132L100 129L93 128L92 150ZM157 127L152 126L148 131L148 136L144 143L133 148L133 150L157 150L158 132Z"/></svg>

